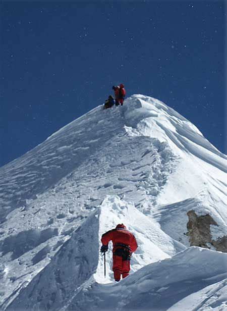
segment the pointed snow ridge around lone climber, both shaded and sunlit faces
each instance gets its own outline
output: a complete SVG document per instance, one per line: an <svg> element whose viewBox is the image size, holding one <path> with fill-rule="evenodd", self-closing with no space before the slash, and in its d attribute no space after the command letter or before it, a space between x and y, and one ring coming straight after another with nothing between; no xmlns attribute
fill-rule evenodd
<svg viewBox="0 0 227 311"><path fill-rule="evenodd" d="M157 223L139 212L133 203L118 196L106 196L49 264L31 282L25 282L15 291L2 307L6 310L58 310L68 305L87 284L113 282L110 250L106 253L106 278L103 275L100 239L104 232L119 223L124 223L134 233L139 244L131 260L132 273L185 249L167 236Z"/></svg>

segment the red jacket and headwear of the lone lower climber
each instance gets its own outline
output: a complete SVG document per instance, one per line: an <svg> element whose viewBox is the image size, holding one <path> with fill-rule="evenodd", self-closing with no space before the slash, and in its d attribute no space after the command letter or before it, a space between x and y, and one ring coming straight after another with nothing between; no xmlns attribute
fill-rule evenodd
<svg viewBox="0 0 227 311"><path fill-rule="evenodd" d="M113 243L113 251L116 248L121 248L121 245L118 244L129 246L132 252L138 247L135 236L124 225L118 225L116 229L109 230L102 235L101 242L103 245L108 245L110 240Z"/></svg>

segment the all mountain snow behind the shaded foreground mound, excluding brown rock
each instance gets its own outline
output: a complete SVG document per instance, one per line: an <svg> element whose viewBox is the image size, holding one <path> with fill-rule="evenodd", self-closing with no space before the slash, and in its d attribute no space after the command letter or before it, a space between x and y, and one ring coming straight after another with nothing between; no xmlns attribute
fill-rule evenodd
<svg viewBox="0 0 227 311"><path fill-rule="evenodd" d="M133 272L189 246L191 209L213 217L215 238L226 234L225 155L189 121L148 96L133 95L123 107L95 108L0 173L3 308L25 308L27 301L28 309L54 309L69 300L66 288L78 290L90 278L110 282L110 267L102 278L97 245L100 234L118 222L126 222L140 243ZM87 226L90 256L81 250Z"/></svg>

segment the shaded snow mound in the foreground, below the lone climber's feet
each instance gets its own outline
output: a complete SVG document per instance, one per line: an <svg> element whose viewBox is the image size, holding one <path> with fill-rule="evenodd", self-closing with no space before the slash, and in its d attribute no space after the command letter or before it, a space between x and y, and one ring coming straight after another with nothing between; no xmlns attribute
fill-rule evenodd
<svg viewBox="0 0 227 311"><path fill-rule="evenodd" d="M226 310L227 254L189 247L120 283L85 286L61 310Z"/></svg>

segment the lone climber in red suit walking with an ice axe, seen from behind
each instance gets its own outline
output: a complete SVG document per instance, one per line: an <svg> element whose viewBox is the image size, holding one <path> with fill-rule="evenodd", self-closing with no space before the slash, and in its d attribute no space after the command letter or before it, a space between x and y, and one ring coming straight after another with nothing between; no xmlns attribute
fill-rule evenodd
<svg viewBox="0 0 227 311"><path fill-rule="evenodd" d="M121 279L121 275L123 279L129 275L130 257L138 246L135 236L123 224L117 225L115 229L109 230L102 235L101 252L108 250L108 242L110 240L113 244L113 276L115 281L118 282Z"/></svg>

